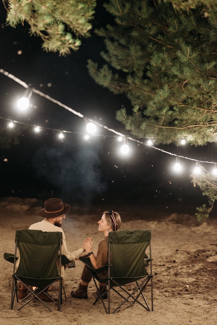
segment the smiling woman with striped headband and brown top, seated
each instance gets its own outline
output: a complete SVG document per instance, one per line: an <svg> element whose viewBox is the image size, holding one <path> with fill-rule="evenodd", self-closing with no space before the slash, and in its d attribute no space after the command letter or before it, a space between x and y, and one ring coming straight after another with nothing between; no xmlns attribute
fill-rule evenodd
<svg viewBox="0 0 217 325"><path fill-rule="evenodd" d="M102 218L98 221L99 227L98 230L103 233L105 238L101 240L97 250L97 256L93 254L92 250L92 237L89 239L84 240L83 248L87 251L90 262L93 268L97 269L102 266L108 264L108 233L110 231L116 231L121 226L121 218L117 212L114 211L105 211L102 214ZM105 277L105 274L100 274L101 279ZM83 272L81 275L81 283L79 284L76 291L71 291L71 296L73 298L79 299L88 299L88 284L91 280L91 274L85 265L83 268ZM99 282L99 290L100 292L104 292L106 290L106 286L104 283ZM103 298L107 298L107 294L103 295Z"/></svg>

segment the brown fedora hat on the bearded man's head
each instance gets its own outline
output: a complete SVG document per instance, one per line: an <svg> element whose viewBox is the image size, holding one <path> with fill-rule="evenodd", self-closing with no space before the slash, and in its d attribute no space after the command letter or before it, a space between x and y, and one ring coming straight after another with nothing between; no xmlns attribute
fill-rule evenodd
<svg viewBox="0 0 217 325"><path fill-rule="evenodd" d="M45 208L39 211L44 218L55 218L65 214L70 209L69 204L62 203L61 199L51 198L45 201Z"/></svg>

